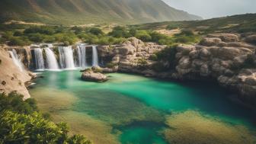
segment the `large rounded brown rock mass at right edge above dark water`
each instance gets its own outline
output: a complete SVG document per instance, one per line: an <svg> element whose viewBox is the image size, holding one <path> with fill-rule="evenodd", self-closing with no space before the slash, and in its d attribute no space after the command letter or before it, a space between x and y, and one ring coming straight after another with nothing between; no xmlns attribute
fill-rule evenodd
<svg viewBox="0 0 256 144"><path fill-rule="evenodd" d="M195 46L178 46L178 65L172 78L213 78L235 91L240 100L256 104L255 46L235 34L210 34Z"/></svg>

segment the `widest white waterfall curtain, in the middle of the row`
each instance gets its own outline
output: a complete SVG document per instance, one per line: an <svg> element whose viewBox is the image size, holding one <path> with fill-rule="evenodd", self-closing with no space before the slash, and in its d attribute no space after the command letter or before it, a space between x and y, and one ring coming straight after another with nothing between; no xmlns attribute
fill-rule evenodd
<svg viewBox="0 0 256 144"><path fill-rule="evenodd" d="M62 69L75 69L72 46L59 46L59 64Z"/></svg>

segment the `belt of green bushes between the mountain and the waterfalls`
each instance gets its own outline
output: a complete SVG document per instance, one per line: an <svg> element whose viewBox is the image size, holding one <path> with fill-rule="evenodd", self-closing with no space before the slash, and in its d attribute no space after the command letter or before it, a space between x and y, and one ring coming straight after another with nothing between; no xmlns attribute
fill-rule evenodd
<svg viewBox="0 0 256 144"><path fill-rule="evenodd" d="M200 36L192 30L181 30L180 34L167 36L154 30L137 30L134 27L117 26L105 34L102 27L62 27L62 26L29 26L22 24L2 24L0 43L10 46L25 46L30 43L62 43L71 45L82 41L90 44L111 45L123 43L126 38L137 37L145 42L163 45L174 43L197 43Z"/></svg>

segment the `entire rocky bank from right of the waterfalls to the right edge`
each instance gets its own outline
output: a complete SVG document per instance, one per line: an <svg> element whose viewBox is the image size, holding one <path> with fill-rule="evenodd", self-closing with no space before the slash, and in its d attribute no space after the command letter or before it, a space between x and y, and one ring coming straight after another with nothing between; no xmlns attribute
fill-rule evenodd
<svg viewBox="0 0 256 144"><path fill-rule="evenodd" d="M256 47L236 34L209 34L195 45L176 47L175 69L155 72L149 57L165 46L131 38L120 46L101 46L101 56L120 72L178 80L213 80L235 91L248 105L256 104ZM163 62L166 64L166 62Z"/></svg>

